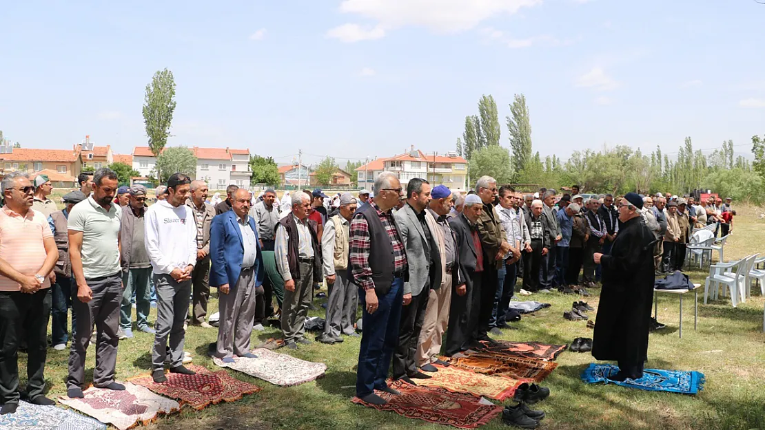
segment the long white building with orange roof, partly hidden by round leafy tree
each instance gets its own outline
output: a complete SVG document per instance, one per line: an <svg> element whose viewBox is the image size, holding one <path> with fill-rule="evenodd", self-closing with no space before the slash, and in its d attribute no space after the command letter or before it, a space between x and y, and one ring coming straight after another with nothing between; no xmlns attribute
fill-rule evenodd
<svg viewBox="0 0 765 430"><path fill-rule="evenodd" d="M249 189L252 172L249 170L249 150L192 147L197 157L195 179L203 179L210 189L226 189L236 185ZM148 147L135 147L133 169L141 176L149 176L157 165L157 159Z"/></svg>

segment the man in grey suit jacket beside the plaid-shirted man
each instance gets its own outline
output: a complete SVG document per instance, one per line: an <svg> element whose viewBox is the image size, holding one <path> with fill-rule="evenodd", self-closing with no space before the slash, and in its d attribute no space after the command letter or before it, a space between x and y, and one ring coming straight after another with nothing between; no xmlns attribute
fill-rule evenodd
<svg viewBox="0 0 765 430"><path fill-rule="evenodd" d="M399 346L393 354L393 379L416 385L411 378L428 379L417 368L417 343L425 321L431 288L441 286L441 254L435 234L428 224L435 220L425 208L431 199L431 186L425 179L415 178L406 186L407 201L396 212L396 224L409 260L409 281L404 283L404 306L399 324Z"/></svg>

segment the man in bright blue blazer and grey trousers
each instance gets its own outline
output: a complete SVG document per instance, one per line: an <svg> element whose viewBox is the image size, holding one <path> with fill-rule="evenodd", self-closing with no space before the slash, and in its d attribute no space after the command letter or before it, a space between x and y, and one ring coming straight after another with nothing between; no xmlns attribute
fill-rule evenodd
<svg viewBox="0 0 765 430"><path fill-rule="evenodd" d="M255 296L262 293L263 258L255 220L248 215L246 189L231 196L229 212L216 215L210 225L210 286L218 289L218 343L215 356L233 363L233 355L249 352Z"/></svg>

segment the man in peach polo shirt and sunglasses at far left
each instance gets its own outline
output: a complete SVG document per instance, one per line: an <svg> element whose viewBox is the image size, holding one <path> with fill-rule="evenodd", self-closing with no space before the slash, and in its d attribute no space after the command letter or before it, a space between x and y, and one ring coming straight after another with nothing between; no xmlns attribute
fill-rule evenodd
<svg viewBox="0 0 765 430"><path fill-rule="evenodd" d="M44 395L43 373L51 302L48 275L58 251L46 217L31 209L33 187L27 173L8 173L0 187L5 197L0 209L0 415L4 415L18 407L17 346L22 340L28 344L28 398L36 405L55 404Z"/></svg>

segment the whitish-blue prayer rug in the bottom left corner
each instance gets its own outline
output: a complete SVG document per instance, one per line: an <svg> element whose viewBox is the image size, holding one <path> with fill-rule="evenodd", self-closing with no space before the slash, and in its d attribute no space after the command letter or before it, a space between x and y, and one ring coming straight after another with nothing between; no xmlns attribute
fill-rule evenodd
<svg viewBox="0 0 765 430"><path fill-rule="evenodd" d="M97 422L68 409L19 402L15 413L0 415L2 430L106 430Z"/></svg>

